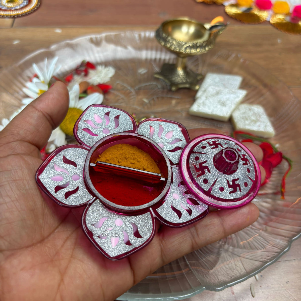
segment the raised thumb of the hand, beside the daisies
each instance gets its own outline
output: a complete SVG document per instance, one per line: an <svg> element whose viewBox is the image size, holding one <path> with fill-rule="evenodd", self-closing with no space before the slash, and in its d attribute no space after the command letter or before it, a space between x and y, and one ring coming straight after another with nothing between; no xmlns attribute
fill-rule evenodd
<svg viewBox="0 0 301 301"><path fill-rule="evenodd" d="M24 108L1 132L1 157L29 154L39 157L51 132L67 114L69 94L62 82L55 84Z"/></svg>

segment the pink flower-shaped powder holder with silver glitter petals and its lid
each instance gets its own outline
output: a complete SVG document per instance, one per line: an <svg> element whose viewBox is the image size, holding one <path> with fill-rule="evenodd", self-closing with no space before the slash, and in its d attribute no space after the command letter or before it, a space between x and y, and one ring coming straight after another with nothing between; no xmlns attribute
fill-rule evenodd
<svg viewBox="0 0 301 301"><path fill-rule="evenodd" d="M86 206L82 228L109 259L122 259L145 247L158 221L182 227L206 216L208 205L221 209L243 206L259 190L255 158L244 145L225 135L209 134L189 141L179 123L151 118L137 127L123 110L92 105L77 120L74 136L80 145L57 148L37 170L36 181L59 205ZM114 203L115 189L105 192L97 186L103 173L95 172L95 161L108 147L120 143L150 154L161 172L144 172L144 178L157 177L160 190L154 199L138 206L130 197L126 203ZM133 171L125 170L125 177L126 172Z"/></svg>

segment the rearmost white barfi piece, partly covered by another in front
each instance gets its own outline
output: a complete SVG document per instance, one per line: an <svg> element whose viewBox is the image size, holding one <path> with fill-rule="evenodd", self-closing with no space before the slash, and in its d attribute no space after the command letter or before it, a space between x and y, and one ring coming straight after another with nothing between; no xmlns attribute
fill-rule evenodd
<svg viewBox="0 0 301 301"><path fill-rule="evenodd" d="M239 88L242 80L243 78L239 75L207 73L202 85L197 91L196 98L209 86L236 90Z"/></svg>

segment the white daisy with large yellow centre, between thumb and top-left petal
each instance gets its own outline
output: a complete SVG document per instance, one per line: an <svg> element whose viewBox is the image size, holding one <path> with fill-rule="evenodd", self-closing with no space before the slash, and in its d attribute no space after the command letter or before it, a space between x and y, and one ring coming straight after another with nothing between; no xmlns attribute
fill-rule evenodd
<svg viewBox="0 0 301 301"><path fill-rule="evenodd" d="M93 93L85 98L79 99L79 85L75 85L69 92L69 110L61 125L52 132L46 147L51 152L56 147L66 144L66 135L73 135L73 127L81 113L92 104L101 104L104 96Z"/></svg>

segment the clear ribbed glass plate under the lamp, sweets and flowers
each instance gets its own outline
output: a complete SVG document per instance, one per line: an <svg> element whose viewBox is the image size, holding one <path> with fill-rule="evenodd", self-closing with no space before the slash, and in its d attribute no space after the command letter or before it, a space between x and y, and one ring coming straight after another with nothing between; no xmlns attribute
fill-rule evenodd
<svg viewBox="0 0 301 301"><path fill-rule="evenodd" d="M61 74L66 75L83 59L116 69L110 84L113 90L104 104L116 106L137 117L154 114L172 119L188 129L214 127L232 132L230 122L219 122L188 114L195 91L167 90L153 74L175 56L163 49L153 32L106 33L61 42L37 51L20 63L0 73L0 119L9 117L21 106L22 88L45 57L59 57ZM238 74L243 76L242 89L248 91L246 103L261 104L272 121L276 135L271 142L293 160L287 177L285 200L279 195L281 177L287 169L282 162L270 183L261 188L253 201L259 207L257 222L214 244L192 252L158 269L123 294L121 300L184 299L202 290L222 290L255 275L290 248L301 232L301 104L286 85L258 65L224 49L214 48L207 54L188 59L195 72Z"/></svg>

